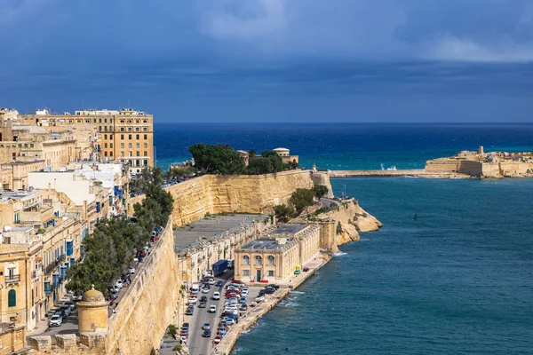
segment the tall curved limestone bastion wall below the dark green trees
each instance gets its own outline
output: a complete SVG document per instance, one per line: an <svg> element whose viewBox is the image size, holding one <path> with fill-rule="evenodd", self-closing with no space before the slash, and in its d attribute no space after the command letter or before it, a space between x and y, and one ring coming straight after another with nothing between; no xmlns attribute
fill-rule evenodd
<svg viewBox="0 0 533 355"><path fill-rule="evenodd" d="M328 180L329 182L329 180ZM312 188L309 170L290 170L277 174L196 177L166 187L174 197L172 220L174 226L187 225L206 213L273 212L274 205L287 203L297 188ZM137 196L129 201L128 209L142 201Z"/></svg>

